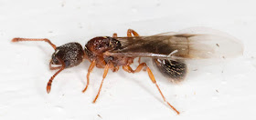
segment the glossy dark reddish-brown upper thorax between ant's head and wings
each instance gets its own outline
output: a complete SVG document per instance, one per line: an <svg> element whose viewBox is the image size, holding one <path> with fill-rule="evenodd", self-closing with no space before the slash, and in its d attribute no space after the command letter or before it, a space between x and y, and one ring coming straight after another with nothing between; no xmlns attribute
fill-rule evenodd
<svg viewBox="0 0 256 120"><path fill-rule="evenodd" d="M92 61L97 55L103 55L106 51L119 49L121 43L110 36L99 36L92 38L85 45L85 54Z"/></svg>

